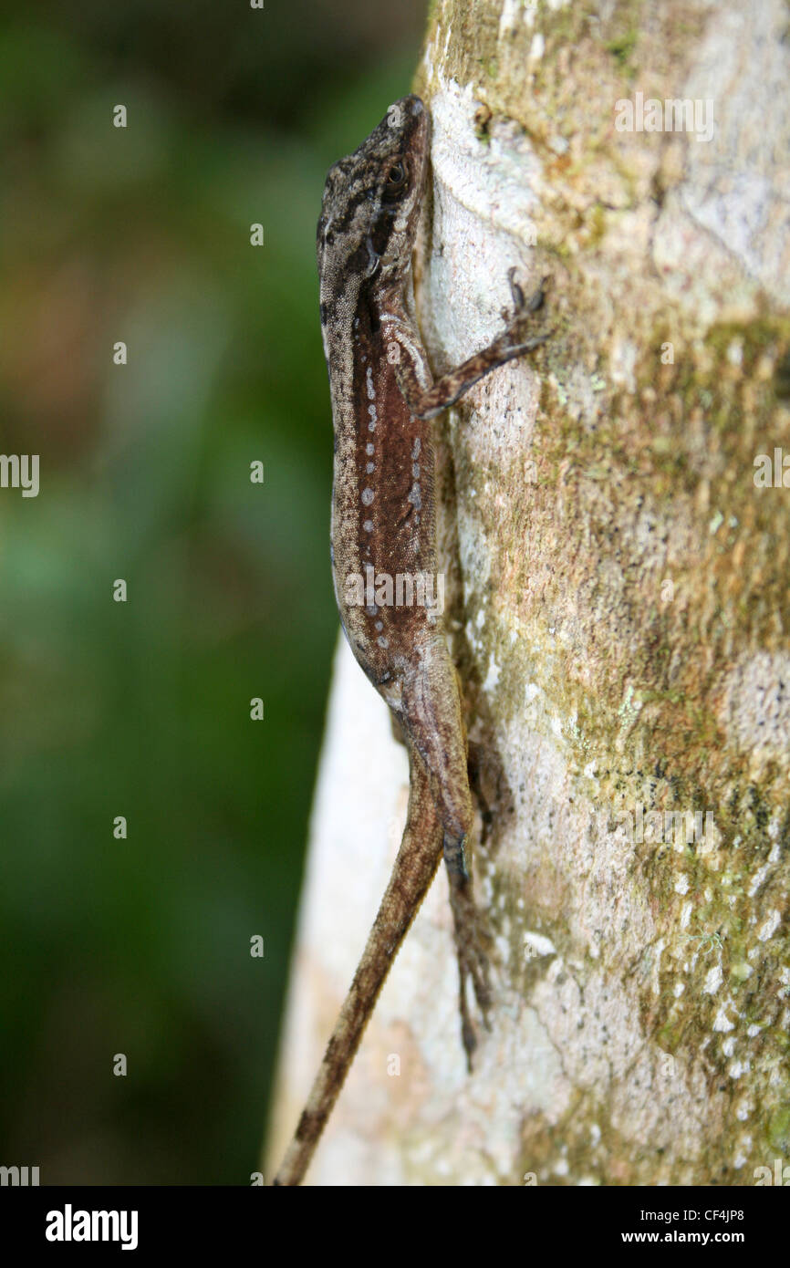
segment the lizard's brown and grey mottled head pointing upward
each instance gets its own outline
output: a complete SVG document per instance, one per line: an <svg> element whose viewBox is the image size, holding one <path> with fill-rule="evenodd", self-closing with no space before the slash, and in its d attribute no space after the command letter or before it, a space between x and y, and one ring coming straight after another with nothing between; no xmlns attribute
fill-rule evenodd
<svg viewBox="0 0 790 1268"><path fill-rule="evenodd" d="M359 150L330 169L318 221L321 299L349 278L408 275L427 176L430 119L418 96L389 107Z"/></svg>

